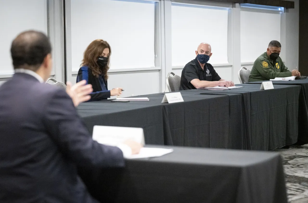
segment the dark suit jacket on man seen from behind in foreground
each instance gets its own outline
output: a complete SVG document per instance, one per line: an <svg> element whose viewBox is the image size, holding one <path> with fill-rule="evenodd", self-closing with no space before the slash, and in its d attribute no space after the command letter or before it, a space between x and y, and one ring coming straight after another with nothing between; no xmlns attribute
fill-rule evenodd
<svg viewBox="0 0 308 203"><path fill-rule="evenodd" d="M0 202L97 202L77 167L124 166L92 140L65 91L25 73L0 86Z"/></svg>

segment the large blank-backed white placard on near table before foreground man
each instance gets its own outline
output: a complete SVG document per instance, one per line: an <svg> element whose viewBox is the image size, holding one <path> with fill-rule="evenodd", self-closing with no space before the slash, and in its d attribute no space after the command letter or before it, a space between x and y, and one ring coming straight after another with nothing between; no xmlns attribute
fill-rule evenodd
<svg viewBox="0 0 308 203"><path fill-rule="evenodd" d="M144 145L143 129L137 127L94 126L92 139L110 146L116 146L128 139Z"/></svg>

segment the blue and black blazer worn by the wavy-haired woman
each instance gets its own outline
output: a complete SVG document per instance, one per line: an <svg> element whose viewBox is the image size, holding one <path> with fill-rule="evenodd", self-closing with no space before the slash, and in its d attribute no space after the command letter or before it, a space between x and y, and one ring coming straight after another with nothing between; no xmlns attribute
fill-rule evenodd
<svg viewBox="0 0 308 203"><path fill-rule="evenodd" d="M108 90L107 80L103 75L98 77L93 76L92 71L87 66L79 68L76 83L81 80L86 80L87 84L91 84L93 92L90 94L91 99L89 101L107 100L110 98L110 91Z"/></svg>

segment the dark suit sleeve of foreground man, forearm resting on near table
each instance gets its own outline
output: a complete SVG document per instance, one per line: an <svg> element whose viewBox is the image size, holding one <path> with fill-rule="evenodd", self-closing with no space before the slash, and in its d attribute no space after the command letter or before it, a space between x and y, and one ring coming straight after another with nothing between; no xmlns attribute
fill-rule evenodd
<svg viewBox="0 0 308 203"><path fill-rule="evenodd" d="M77 166L124 166L120 148L105 146L92 139L66 92L56 90L45 109L43 122L47 132L59 150Z"/></svg>

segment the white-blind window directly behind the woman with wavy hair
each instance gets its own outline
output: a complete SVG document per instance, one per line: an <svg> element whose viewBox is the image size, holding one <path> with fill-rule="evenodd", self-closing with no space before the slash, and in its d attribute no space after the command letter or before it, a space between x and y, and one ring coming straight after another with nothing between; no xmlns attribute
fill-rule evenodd
<svg viewBox="0 0 308 203"><path fill-rule="evenodd" d="M71 1L71 70L77 71L91 41L111 46L110 68L154 67L154 14L151 1ZM68 67L69 68L69 67Z"/></svg>

